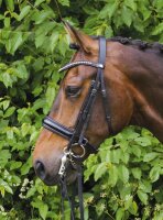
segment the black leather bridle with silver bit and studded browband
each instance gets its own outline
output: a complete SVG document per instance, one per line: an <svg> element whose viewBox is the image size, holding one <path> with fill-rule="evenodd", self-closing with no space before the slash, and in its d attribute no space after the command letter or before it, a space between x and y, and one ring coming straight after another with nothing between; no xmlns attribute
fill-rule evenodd
<svg viewBox="0 0 163 220"><path fill-rule="evenodd" d="M82 162L84 162L85 158L87 158L89 154L97 152L97 148L88 142L87 138L85 136L85 133L89 123L91 110L93 110L98 91L101 92L106 120L108 123L108 130L110 133L112 133L110 106L108 102L108 97L107 97L107 91L106 91L106 86L105 86L105 80L104 80L104 69L105 69L105 62L106 62L107 45L106 45L106 38L104 36L99 36L98 41L99 41L98 63L93 63L88 61L78 61L78 62L69 63L59 69L59 72L64 72L79 65L91 66L91 67L97 68L97 74L95 78L91 80L88 95L79 111L74 130L66 128L65 125L58 123L57 121L54 121L50 117L46 117L43 121L43 127L45 129L69 140L68 145L63 152L64 155L62 157L61 168L58 172L62 183L64 183L65 180L66 167L68 163L70 163L74 167L79 167L78 164L82 164ZM74 146L76 145L80 146L82 152L83 152L82 154L76 154L74 152ZM80 170L80 168L77 168L77 169ZM82 195L79 195L79 197L82 197ZM83 201L83 199L80 200ZM84 213L82 213L83 211L84 211L83 206L80 205L80 219L84 219ZM73 215L72 215L72 219L74 219Z"/></svg>

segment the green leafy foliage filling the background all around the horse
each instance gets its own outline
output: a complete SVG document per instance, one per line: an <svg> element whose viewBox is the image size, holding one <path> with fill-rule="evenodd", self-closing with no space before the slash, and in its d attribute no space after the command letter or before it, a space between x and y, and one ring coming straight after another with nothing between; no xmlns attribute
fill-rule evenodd
<svg viewBox="0 0 163 220"><path fill-rule="evenodd" d="M88 34L163 42L162 0L58 0L58 6ZM35 177L31 156L58 89L57 69L72 54L58 21L55 1L0 0L0 219L61 219L58 189ZM162 220L162 153L144 129L106 140L85 163L85 180L96 183L84 195L86 219Z"/></svg>

